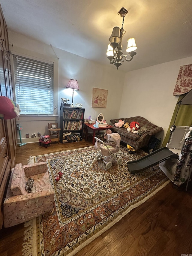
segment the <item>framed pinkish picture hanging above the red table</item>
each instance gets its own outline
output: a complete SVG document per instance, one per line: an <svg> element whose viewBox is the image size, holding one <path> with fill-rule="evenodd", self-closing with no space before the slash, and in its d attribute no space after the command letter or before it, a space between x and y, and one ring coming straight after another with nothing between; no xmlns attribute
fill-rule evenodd
<svg viewBox="0 0 192 256"><path fill-rule="evenodd" d="M107 94L108 90L93 88L91 107L106 107Z"/></svg>

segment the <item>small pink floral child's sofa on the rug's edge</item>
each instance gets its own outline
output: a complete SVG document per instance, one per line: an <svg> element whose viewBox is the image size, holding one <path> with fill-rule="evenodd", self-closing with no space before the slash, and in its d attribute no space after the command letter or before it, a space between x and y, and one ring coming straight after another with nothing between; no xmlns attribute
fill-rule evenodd
<svg viewBox="0 0 192 256"><path fill-rule="evenodd" d="M34 175L30 178L34 179L32 193L12 195L11 186L17 184L22 171L17 167L11 170L10 181L7 189L7 195L4 200L4 227L11 227L19 223L29 221L52 209L54 204L54 190L51 186L49 173L46 171L46 162L34 164ZM21 167L21 164L19 164ZM28 174L33 173L33 164L23 166ZM14 175L13 175L14 174ZM24 175L24 174L23 174ZM26 175L26 174L25 174Z"/></svg>

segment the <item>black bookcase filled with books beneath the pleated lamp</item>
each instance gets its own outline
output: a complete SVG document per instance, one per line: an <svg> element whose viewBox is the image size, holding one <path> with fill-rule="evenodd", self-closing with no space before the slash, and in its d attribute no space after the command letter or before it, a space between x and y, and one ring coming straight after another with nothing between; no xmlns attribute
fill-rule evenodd
<svg viewBox="0 0 192 256"><path fill-rule="evenodd" d="M61 107L61 143L80 141L83 138L84 108Z"/></svg>

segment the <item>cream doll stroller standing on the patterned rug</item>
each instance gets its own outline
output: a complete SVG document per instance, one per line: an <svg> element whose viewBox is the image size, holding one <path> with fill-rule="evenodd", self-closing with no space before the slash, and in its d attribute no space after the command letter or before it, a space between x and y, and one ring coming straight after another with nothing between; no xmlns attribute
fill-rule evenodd
<svg viewBox="0 0 192 256"><path fill-rule="evenodd" d="M106 135L107 142L104 142L95 137L95 149L101 149L101 154L96 156L96 160L102 160L106 164L106 168L109 169L112 166L112 160L115 158L115 154L120 150L121 137L118 133L112 133ZM102 144L101 144L102 143ZM122 163L122 158L117 159L117 164Z"/></svg>

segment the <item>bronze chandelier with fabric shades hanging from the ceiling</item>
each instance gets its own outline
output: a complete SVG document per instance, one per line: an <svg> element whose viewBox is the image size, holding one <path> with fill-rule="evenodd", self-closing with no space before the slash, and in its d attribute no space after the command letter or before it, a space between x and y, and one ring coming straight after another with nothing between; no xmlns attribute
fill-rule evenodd
<svg viewBox="0 0 192 256"><path fill-rule="evenodd" d="M128 45L126 52L128 52L129 56L131 56L131 59L128 59L128 55L123 55L122 52L122 38L125 35L125 29L123 29L123 23L124 23L124 18L125 15L128 14L128 11L122 7L121 10L119 10L118 14L123 18L122 22L122 28L120 29L119 27L114 27L113 32L109 38L110 44L108 45L107 48L107 58L110 60L110 64L113 64L119 68L119 66L122 65L121 62L126 61L131 61L137 53L135 50L137 49L137 45L135 43L135 38L129 38L128 39Z"/></svg>

